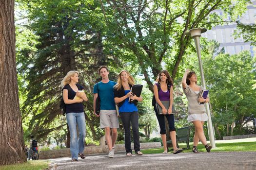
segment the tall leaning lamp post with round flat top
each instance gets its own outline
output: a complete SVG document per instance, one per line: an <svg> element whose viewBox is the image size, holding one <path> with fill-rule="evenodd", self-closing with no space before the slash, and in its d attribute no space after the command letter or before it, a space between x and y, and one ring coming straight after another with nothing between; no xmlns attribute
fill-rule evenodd
<svg viewBox="0 0 256 170"><path fill-rule="evenodd" d="M204 89L206 89L206 85L205 85L205 81L204 81L203 67L202 67L202 61L201 61L200 39L199 38L201 36L201 33L205 33L206 31L207 30L205 28L194 28L194 29L187 30L185 32L186 35L191 35L192 38L194 38L194 40L195 40L198 63L199 63L199 68L200 68L201 82L202 82ZM213 130L213 124L212 124L209 103L205 103L205 109L206 109L206 113L209 117L209 119L207 120L207 128L208 128L208 135L210 138L210 143L211 143L211 146L213 148L215 148L216 146L215 146L214 130Z"/></svg>

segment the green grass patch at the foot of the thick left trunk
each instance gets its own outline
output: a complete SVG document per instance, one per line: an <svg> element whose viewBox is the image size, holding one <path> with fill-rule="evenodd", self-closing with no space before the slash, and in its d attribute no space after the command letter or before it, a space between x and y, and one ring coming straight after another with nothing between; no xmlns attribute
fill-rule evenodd
<svg viewBox="0 0 256 170"><path fill-rule="evenodd" d="M33 160L22 164L0 166L0 170L47 170L49 162Z"/></svg>

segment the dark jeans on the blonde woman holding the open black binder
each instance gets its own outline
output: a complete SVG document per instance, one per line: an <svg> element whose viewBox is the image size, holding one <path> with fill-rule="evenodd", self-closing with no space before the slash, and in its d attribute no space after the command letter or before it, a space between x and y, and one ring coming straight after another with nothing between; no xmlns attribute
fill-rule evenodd
<svg viewBox="0 0 256 170"><path fill-rule="evenodd" d="M126 153L132 153L131 123L133 128L134 150L135 150L135 153L138 153L138 151L140 151L139 133L138 133L138 112L121 112L120 117L123 122Z"/></svg>

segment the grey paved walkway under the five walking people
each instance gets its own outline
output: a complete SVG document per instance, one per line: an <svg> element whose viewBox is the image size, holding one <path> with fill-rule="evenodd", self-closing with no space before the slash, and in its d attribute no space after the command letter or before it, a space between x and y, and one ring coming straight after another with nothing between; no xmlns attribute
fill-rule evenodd
<svg viewBox="0 0 256 170"><path fill-rule="evenodd" d="M256 152L144 154L126 157L119 152L86 155L71 162L70 157L48 159L50 170L256 170Z"/></svg>

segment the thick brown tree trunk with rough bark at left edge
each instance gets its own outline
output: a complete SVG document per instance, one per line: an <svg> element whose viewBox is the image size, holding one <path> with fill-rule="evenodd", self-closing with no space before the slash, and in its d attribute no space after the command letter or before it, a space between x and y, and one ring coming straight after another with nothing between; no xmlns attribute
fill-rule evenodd
<svg viewBox="0 0 256 170"><path fill-rule="evenodd" d="M0 165L26 162L15 60L14 0L0 0Z"/></svg>

